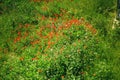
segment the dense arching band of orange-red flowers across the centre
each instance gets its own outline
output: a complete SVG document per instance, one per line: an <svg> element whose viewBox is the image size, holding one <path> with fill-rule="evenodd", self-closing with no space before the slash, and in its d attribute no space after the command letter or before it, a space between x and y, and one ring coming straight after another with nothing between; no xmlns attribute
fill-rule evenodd
<svg viewBox="0 0 120 80"><path fill-rule="evenodd" d="M69 29L70 27L72 27L72 25L77 25L77 26L84 25L86 29L88 29L92 33L96 34L96 29L93 28L91 24L86 22L84 18L81 18L80 20L79 19L68 20L58 27L55 26L54 18L53 19L51 18L50 20L53 21L52 24L48 24L44 27L40 27L40 31L37 32L37 34L40 36L40 38L48 40L48 42L46 42L46 44L47 44L46 48L50 48L51 45L55 44L59 40L62 30ZM56 19L55 19L55 21L56 21ZM50 29L50 32L48 32L46 35L42 35L41 33L44 33L46 29ZM56 41L52 42L52 39L55 37L56 37Z"/></svg>

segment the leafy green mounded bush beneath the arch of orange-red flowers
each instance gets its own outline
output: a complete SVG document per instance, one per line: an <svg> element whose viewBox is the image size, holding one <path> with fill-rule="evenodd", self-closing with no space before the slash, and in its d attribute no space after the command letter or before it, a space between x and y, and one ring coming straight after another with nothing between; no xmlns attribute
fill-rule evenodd
<svg viewBox="0 0 120 80"><path fill-rule="evenodd" d="M66 39L69 40L65 42L65 39L61 39L61 44L65 42L63 45L65 49L46 70L47 78L62 80L62 76L64 76L69 80L112 79L110 68L102 60L102 56L106 54L103 45L100 45L103 43L97 41L97 36L85 31L83 26L77 27L79 29L76 30L73 27L64 33L67 36ZM80 42L78 42L79 39ZM58 50L58 47L55 47L55 51Z"/></svg>

